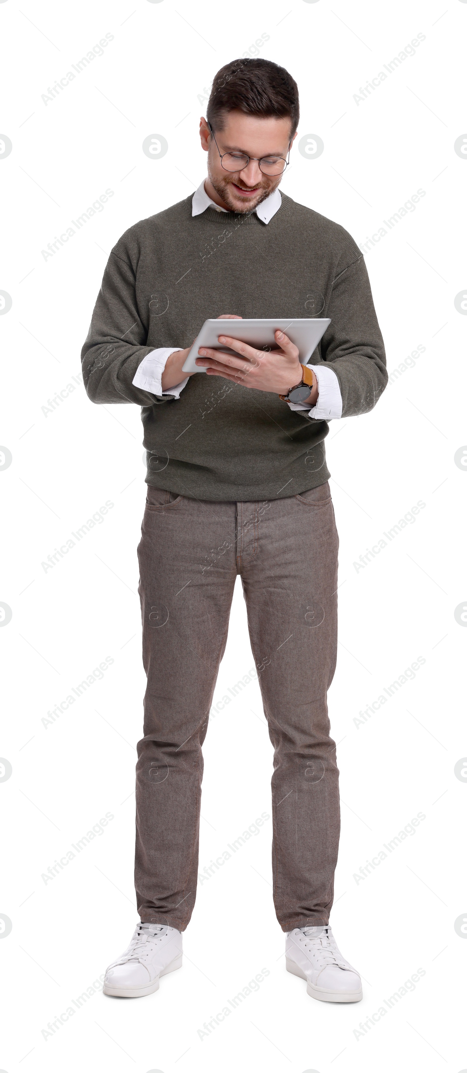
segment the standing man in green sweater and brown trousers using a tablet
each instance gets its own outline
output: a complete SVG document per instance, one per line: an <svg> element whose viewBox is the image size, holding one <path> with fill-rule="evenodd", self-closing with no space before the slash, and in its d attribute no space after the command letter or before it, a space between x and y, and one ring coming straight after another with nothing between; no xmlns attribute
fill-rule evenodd
<svg viewBox="0 0 467 1073"><path fill-rule="evenodd" d="M200 123L207 178L118 240L83 348L89 398L140 405L147 450L137 548L147 674L136 765L141 923L107 969L106 995L148 995L181 966L202 744L240 574L274 745L274 903L286 966L313 998L362 998L329 924L339 797L326 694L339 542L324 438L329 420L375 406L388 373L359 247L279 191L297 124L298 91L283 68L247 59L218 72ZM265 353L225 329L225 351L199 351L206 371L183 372L207 318L319 314L331 324L306 369L281 332L280 349Z"/></svg>

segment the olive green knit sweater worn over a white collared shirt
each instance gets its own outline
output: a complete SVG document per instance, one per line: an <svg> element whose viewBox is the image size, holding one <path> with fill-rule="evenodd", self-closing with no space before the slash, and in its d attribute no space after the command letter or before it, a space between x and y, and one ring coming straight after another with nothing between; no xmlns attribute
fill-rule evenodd
<svg viewBox="0 0 467 1073"><path fill-rule="evenodd" d="M133 386L159 347L189 347L207 318L330 317L312 363L332 363L342 417L366 413L388 383L363 254L344 227L286 194L254 211L192 217L192 195L130 227L112 250L82 351L92 402L142 407L146 482L207 500L296 495L331 476L325 421L278 395L199 373L179 399ZM355 465L359 459L355 459Z"/></svg>

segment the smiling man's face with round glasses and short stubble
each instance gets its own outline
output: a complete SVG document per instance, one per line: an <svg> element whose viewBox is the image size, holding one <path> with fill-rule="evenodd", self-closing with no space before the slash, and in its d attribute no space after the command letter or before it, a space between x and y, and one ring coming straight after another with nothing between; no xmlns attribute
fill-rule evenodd
<svg viewBox="0 0 467 1073"><path fill-rule="evenodd" d="M223 130L214 131L216 142L205 119L200 122L203 149L207 151L207 175L216 193L233 212L251 212L260 202L276 190L282 175L264 175L259 161L250 160L239 172L227 172L222 167L219 153L245 152L252 157L283 157L289 152L290 119L286 116L263 118L248 116L243 112L228 112Z"/></svg>

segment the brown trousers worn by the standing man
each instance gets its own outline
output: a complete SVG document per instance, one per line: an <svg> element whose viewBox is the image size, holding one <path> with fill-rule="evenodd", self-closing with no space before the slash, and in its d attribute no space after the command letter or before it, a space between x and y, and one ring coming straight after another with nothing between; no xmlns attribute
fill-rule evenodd
<svg viewBox="0 0 467 1073"><path fill-rule="evenodd" d="M330 485L274 502L211 502L147 486L137 548L147 675L137 745L142 921L185 930L196 893L202 745L242 576L274 746L273 897L283 931L327 924L340 829L326 693L337 655Z"/></svg>

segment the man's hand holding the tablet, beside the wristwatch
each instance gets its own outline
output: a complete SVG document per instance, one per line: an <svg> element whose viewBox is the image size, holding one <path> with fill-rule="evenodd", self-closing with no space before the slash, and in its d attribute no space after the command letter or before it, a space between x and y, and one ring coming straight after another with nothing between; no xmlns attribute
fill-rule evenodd
<svg viewBox="0 0 467 1073"><path fill-rule="evenodd" d="M224 351L203 347L199 349L201 356L196 357L196 365L204 365L207 376L224 377L236 384L254 387L260 392L287 395L303 377L298 348L280 328L276 329L274 338L280 349L268 352L257 350L256 347L250 347L231 336L218 336L218 341L235 350L238 357ZM312 391L316 391L316 385Z"/></svg>

